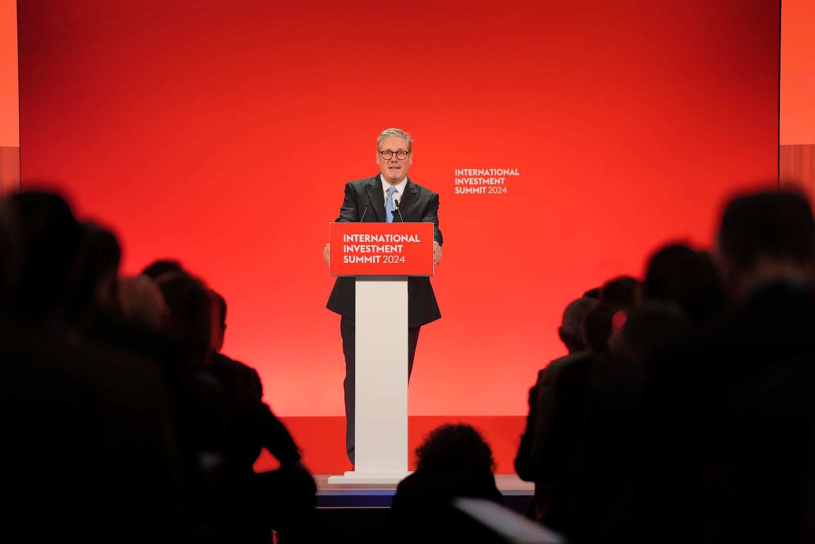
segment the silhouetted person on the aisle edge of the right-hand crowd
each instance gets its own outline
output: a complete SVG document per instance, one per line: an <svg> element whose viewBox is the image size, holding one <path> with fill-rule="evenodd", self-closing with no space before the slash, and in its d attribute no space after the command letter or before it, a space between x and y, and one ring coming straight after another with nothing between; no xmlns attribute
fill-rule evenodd
<svg viewBox="0 0 815 544"><path fill-rule="evenodd" d="M547 432L549 418L552 416L551 405L553 403L553 383L557 380L557 373L563 365L569 365L575 360L588 356L584 352L586 344L583 338L582 321L586 312L597 303L597 299L581 297L566 305L563 311L561 325L557 328L557 334L568 354L549 361L549 364L538 371L538 378L529 390L529 412L526 415L526 428L521 436L518 445L518 452L515 455L515 471L522 480L528 482L539 482L539 468L532 459L532 446L535 443L535 432ZM539 408L541 405L541 408ZM540 422L539 422L540 418ZM532 519L540 519L545 506L544 489L539 484L535 484L535 493L530 501L525 515Z"/></svg>

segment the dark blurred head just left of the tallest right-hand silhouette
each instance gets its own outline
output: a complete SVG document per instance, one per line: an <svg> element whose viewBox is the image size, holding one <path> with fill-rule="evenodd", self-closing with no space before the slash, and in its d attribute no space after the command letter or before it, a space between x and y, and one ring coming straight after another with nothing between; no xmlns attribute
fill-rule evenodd
<svg viewBox="0 0 815 544"><path fill-rule="evenodd" d="M724 290L712 255L679 242L663 245L650 256L641 299L677 303L695 326L713 325L725 314Z"/></svg>

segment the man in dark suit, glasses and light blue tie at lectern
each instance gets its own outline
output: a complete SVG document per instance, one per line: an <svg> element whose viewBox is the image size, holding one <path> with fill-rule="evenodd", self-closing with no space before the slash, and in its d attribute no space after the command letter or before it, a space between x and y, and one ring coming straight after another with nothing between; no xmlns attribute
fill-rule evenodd
<svg viewBox="0 0 815 544"><path fill-rule="evenodd" d="M337 223L433 223L433 262L442 258L442 232L438 229L438 193L414 184L407 177L413 163L413 139L398 128L383 130L377 138L379 174L346 184ZM390 202L386 202L387 200ZM323 250L329 262L329 245ZM346 401L346 450L354 464L355 408L355 310L356 284L354 277L337 277L326 307L340 314L342 352L346 356L346 379L343 383ZM407 378L413 369L416 343L421 325L436 321L436 295L430 277L411 276L407 279Z"/></svg>

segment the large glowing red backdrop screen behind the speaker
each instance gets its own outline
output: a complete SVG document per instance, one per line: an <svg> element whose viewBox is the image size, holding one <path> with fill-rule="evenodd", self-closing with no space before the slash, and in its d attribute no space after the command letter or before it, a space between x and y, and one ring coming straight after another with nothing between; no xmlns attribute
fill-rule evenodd
<svg viewBox="0 0 815 544"><path fill-rule="evenodd" d="M182 261L282 416L341 415L322 259L376 138L445 244L414 415L525 415L562 310L777 179L778 0L20 2L23 188ZM493 182L485 181L493 179Z"/></svg>

